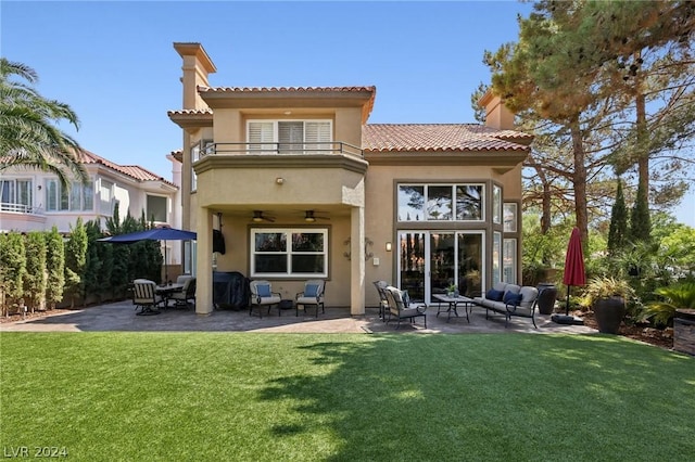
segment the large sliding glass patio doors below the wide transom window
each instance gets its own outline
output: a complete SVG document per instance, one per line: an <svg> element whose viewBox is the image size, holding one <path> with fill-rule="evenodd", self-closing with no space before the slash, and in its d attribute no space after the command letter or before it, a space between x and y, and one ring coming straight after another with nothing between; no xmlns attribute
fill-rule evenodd
<svg viewBox="0 0 695 462"><path fill-rule="evenodd" d="M483 244L482 231L401 231L399 286L410 299L427 303L452 285L477 296L483 287Z"/></svg>

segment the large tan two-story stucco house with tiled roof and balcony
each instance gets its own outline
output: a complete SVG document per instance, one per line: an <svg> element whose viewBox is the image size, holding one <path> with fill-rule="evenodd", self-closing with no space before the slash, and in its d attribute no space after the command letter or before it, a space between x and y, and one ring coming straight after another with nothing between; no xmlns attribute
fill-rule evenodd
<svg viewBox="0 0 695 462"><path fill-rule="evenodd" d="M374 87L211 88L200 43L184 61L184 228L198 232L197 311L213 270L267 279L293 298L326 280L326 303L376 306L386 280L412 298L456 284L519 282L521 163L532 137L486 94L486 124L367 124ZM407 104L407 102L404 102ZM213 230L226 253L213 258Z"/></svg>

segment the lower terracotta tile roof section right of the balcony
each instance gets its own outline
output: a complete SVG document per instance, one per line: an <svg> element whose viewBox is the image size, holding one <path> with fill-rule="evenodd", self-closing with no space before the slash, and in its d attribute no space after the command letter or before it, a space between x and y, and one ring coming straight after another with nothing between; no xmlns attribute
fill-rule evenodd
<svg viewBox="0 0 695 462"><path fill-rule="evenodd" d="M362 131L364 151L528 151L532 136L477 124L369 124Z"/></svg>

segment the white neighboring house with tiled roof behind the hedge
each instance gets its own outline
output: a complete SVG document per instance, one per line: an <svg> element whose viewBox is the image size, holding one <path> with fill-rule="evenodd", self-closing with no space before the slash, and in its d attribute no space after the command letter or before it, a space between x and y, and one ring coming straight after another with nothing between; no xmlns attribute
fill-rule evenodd
<svg viewBox="0 0 695 462"><path fill-rule="evenodd" d="M77 218L99 220L102 229L118 204L121 219L129 211L140 219L144 210L155 224L180 227L180 163L169 156L174 181L165 180L136 165L117 165L83 150L79 161L87 170L86 184L63 189L55 175L22 166L0 176L0 232L50 231L53 226L68 233ZM178 174L177 174L178 172ZM179 179L176 178L179 176ZM170 245L170 243L169 243ZM180 265L178 247L170 251L169 265Z"/></svg>

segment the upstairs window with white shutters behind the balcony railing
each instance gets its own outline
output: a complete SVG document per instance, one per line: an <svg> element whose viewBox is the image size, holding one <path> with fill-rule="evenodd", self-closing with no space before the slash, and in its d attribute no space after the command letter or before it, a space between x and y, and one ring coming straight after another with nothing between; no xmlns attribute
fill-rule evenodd
<svg viewBox="0 0 695 462"><path fill-rule="evenodd" d="M330 120L250 120L247 139L254 154L316 154L331 149Z"/></svg>

